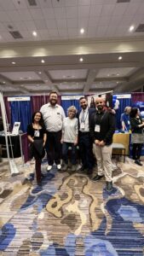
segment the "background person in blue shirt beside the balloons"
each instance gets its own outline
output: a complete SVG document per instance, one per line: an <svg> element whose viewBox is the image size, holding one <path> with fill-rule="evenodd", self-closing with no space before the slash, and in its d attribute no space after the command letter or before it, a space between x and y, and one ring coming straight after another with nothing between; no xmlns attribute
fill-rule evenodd
<svg viewBox="0 0 144 256"><path fill-rule="evenodd" d="M124 113L121 114L121 124L123 131L130 131L130 110L131 107L125 107Z"/></svg>

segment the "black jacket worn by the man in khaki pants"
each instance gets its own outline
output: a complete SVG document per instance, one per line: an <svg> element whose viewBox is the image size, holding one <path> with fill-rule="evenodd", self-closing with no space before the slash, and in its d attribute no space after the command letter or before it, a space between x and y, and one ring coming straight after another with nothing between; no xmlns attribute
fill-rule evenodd
<svg viewBox="0 0 144 256"><path fill-rule="evenodd" d="M112 136L115 131L115 116L107 110L92 113L90 116L90 136L95 140L104 141L106 145L112 144ZM100 125L100 132L95 131L95 125Z"/></svg>

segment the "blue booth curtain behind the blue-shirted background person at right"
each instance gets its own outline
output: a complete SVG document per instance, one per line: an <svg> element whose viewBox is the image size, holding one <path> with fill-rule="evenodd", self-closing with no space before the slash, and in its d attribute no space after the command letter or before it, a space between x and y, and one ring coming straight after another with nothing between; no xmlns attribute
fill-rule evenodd
<svg viewBox="0 0 144 256"><path fill-rule="evenodd" d="M122 129L122 125L120 122L121 114L124 113L124 108L131 106L131 98L123 98L118 99L119 101L119 107L118 110L116 110L116 124L117 124L117 130Z"/></svg>

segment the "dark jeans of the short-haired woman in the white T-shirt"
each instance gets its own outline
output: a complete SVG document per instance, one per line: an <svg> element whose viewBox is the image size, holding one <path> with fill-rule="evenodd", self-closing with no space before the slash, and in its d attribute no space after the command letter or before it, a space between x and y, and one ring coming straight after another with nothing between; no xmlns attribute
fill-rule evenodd
<svg viewBox="0 0 144 256"><path fill-rule="evenodd" d="M77 146L73 143L62 143L62 159L65 161L66 165L68 164L68 149L69 147L72 148L71 150L71 162L72 165L77 164Z"/></svg>

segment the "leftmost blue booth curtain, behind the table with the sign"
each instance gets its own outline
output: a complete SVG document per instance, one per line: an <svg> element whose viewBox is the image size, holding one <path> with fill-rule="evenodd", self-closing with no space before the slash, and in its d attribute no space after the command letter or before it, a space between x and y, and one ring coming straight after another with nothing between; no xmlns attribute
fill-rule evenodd
<svg viewBox="0 0 144 256"><path fill-rule="evenodd" d="M10 102L11 107L11 125L14 122L20 122L20 130L26 132L27 125L32 121L31 101Z"/></svg>

